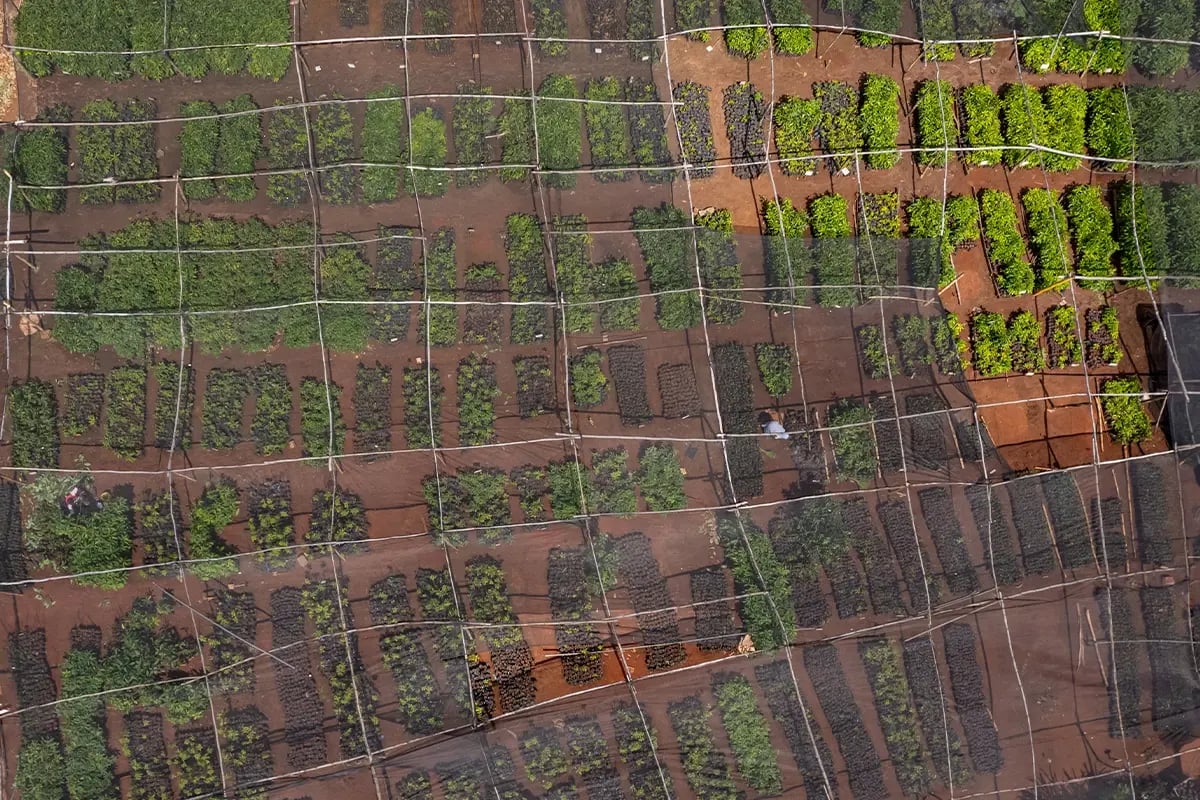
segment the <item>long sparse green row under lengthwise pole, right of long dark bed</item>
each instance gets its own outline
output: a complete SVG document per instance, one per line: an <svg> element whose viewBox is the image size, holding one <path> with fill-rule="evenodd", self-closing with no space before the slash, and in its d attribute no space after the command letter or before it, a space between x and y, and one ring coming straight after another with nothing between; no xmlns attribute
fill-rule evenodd
<svg viewBox="0 0 1200 800"><path fill-rule="evenodd" d="M320 672L334 699L342 758L355 758L383 746L376 714L379 696L359 655L358 634L347 630L353 620L347 619L346 589L338 581L307 581L300 604L317 633Z"/></svg>

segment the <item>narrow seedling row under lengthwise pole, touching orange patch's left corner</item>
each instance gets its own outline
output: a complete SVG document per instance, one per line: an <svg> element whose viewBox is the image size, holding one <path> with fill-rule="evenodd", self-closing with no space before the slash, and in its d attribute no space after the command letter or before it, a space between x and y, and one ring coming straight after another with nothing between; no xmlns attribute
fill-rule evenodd
<svg viewBox="0 0 1200 800"><path fill-rule="evenodd" d="M416 571L416 600L421 618L433 625L434 651L450 687L450 696L472 721L490 720L496 711L492 673L463 634L462 612L450 571Z"/></svg>

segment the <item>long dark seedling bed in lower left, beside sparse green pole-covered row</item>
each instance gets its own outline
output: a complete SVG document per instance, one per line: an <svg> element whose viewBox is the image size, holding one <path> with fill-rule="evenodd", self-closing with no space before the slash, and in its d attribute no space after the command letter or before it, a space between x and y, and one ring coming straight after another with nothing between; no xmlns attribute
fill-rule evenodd
<svg viewBox="0 0 1200 800"><path fill-rule="evenodd" d="M288 745L288 766L292 769L326 762L325 705L317 692L305 644L300 594L298 587L271 593L271 650L286 662L272 660L275 691L283 709L283 741Z"/></svg>

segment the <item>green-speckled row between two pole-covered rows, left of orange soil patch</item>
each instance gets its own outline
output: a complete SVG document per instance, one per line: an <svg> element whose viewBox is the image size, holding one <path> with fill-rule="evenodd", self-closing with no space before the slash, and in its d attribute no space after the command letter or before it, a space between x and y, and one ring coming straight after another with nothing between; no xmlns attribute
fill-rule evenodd
<svg viewBox="0 0 1200 800"><path fill-rule="evenodd" d="M403 573L390 575L371 587L371 622L379 630L379 655L396 686L396 712L414 736L443 730L438 681L425 651L421 627L413 626L413 607Z"/></svg>

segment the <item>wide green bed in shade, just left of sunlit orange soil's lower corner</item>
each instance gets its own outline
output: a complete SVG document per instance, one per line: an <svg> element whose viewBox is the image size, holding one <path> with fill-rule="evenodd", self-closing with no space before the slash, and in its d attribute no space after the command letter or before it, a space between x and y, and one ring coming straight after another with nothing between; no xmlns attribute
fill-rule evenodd
<svg viewBox="0 0 1200 800"><path fill-rule="evenodd" d="M695 291L696 261L691 234L678 230L688 225L688 215L664 203L658 207L634 209L632 222L650 291L655 293L654 317L659 326L680 330L697 325L700 295Z"/></svg>

